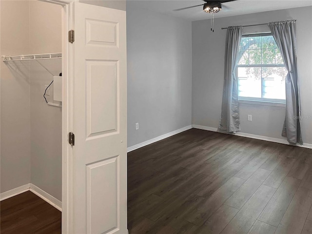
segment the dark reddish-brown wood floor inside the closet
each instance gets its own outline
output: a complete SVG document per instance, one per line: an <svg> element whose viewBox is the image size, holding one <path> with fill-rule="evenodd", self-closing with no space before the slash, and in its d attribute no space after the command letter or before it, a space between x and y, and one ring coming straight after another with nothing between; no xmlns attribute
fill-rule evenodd
<svg viewBox="0 0 312 234"><path fill-rule="evenodd" d="M61 212L30 191L0 202L1 234L60 234Z"/></svg>

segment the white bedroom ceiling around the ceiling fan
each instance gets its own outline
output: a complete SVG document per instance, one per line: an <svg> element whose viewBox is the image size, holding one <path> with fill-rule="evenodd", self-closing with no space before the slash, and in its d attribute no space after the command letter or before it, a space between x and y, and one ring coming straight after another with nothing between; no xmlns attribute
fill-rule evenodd
<svg viewBox="0 0 312 234"><path fill-rule="evenodd" d="M203 12L202 6L181 11L173 10L203 3L203 0L127 0L127 4L134 5L138 8L149 9L165 15L192 21L210 19L210 14ZM312 0L236 0L223 4L229 9L223 8L215 14L215 18L312 6Z"/></svg>

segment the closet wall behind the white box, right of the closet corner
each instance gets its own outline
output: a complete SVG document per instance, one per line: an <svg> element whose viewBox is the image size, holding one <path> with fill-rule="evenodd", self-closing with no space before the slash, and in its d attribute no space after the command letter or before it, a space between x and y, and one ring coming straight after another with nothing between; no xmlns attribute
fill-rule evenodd
<svg viewBox="0 0 312 234"><path fill-rule="evenodd" d="M61 6L42 1L29 3L30 53L62 51ZM61 59L44 64L61 72ZM30 65L31 183L48 194L62 198L62 110L47 105L42 97L53 76L33 61ZM47 100L53 102L53 84Z"/></svg>

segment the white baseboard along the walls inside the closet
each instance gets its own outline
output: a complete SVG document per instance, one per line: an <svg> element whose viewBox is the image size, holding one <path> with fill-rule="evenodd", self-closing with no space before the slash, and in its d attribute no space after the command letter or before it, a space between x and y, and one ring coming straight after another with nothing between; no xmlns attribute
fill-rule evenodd
<svg viewBox="0 0 312 234"><path fill-rule="evenodd" d="M0 194L0 200L2 201L2 200L5 200L5 199L10 198L12 196L19 195L19 194L27 192L27 191L30 191L30 192L36 194L41 199L45 200L50 205L57 208L59 211L62 211L62 202L60 200L58 200L54 196L49 195L48 193L44 192L42 189L40 189L39 187L37 187L36 185L34 185L32 183L25 184L25 185L22 185L18 188L11 189L9 191L1 193Z"/></svg>

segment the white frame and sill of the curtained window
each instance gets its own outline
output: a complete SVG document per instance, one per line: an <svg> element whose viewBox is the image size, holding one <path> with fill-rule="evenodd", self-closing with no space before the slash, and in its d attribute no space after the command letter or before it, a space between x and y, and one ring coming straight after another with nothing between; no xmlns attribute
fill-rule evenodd
<svg viewBox="0 0 312 234"><path fill-rule="evenodd" d="M247 37L265 37L265 36L273 36L271 32L262 32L262 33L248 33L243 34L242 38ZM276 43L276 42L275 42ZM262 47L261 47L262 49ZM239 61L238 61L239 62ZM262 57L261 57L262 62ZM239 67L285 67L285 64L236 64L235 66L235 76L237 78L237 87L238 87L238 68ZM263 82L261 76L261 84ZM262 94L262 85L261 85L261 94ZM238 94L237 94L238 95ZM286 103L286 99L277 99L277 98L254 98L254 97L242 97L238 96L238 102L247 103L247 104L263 104L263 105L276 105L276 106L284 106Z"/></svg>

